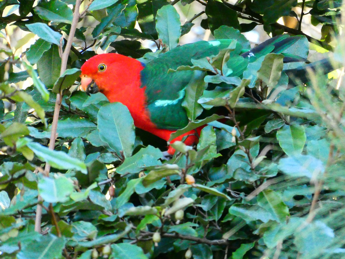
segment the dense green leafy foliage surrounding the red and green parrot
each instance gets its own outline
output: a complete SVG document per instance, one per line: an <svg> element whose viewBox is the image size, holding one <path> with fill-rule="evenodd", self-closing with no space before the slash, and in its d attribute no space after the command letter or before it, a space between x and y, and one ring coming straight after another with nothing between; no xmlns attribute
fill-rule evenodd
<svg viewBox="0 0 345 259"><path fill-rule="evenodd" d="M199 12L181 24L176 8L196 2ZM94 0L79 18L77 3L0 2L1 257L344 257L342 76L310 71L309 83L293 84L283 69L304 63L283 66L272 45L262 57L240 56L250 48L240 32L256 26L300 35L286 55L344 46L342 1ZM283 16L295 26L278 23ZM174 53L200 17L214 38L241 49L179 68L208 73L187 87L184 107L187 129L209 126L196 149L177 143L163 161L166 143L135 129L126 107L78 91L79 68L95 51L145 63ZM304 33L303 17L322 27L321 38ZM222 123L198 117L212 107L225 109Z"/></svg>

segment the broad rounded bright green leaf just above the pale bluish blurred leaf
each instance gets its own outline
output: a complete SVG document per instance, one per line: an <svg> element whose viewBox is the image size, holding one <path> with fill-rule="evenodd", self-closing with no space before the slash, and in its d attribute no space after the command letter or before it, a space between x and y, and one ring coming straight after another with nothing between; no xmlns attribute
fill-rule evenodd
<svg viewBox="0 0 345 259"><path fill-rule="evenodd" d="M306 138L304 127L300 125L285 125L277 132L279 146L287 155L302 153Z"/></svg>

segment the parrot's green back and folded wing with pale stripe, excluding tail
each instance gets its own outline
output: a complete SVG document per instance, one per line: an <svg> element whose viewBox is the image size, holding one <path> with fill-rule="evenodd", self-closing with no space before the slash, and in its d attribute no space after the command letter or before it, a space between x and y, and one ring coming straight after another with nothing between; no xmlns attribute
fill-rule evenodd
<svg viewBox="0 0 345 259"><path fill-rule="evenodd" d="M200 59L217 55L227 48L232 40L198 41L178 46L150 61L141 73L142 85L146 86L147 107L151 121L159 128L176 130L188 124L188 118L182 102L185 87L191 80L193 71L169 69L179 66L192 66L191 59Z"/></svg>

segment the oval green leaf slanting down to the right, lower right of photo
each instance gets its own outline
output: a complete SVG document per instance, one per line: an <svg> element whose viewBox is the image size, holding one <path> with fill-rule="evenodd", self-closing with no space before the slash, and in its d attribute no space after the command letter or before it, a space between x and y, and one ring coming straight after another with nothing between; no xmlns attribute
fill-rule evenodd
<svg viewBox="0 0 345 259"><path fill-rule="evenodd" d="M286 217L290 216L289 209L282 201L279 194L272 190L264 190L259 193L257 201L260 207L269 211L275 220L279 222L286 221Z"/></svg>

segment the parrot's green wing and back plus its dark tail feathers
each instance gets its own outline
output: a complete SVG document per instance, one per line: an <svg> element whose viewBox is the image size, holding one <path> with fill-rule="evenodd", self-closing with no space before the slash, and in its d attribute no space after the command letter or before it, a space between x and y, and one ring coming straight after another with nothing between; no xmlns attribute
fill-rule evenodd
<svg viewBox="0 0 345 259"><path fill-rule="evenodd" d="M151 121L158 128L169 130L177 130L188 124L182 102L185 96L185 88L193 76L193 71L181 70L168 73L169 69L176 70L180 66L193 66L191 59L197 60L217 56L221 50L228 49L230 44L231 48L235 49L230 57L233 60L238 60L234 64L241 66L241 69L237 70L242 71L242 73L248 63L254 62L257 58L268 53L283 54L284 63L303 62L302 64L304 64L307 61L307 53L302 56L294 53L296 52L294 50L298 49L298 44L301 44L303 40L303 36L290 37L285 34L273 37L251 50L243 50L248 45L241 45L231 39L198 41L178 46L160 54L157 58L146 63L141 73L142 87L146 87L147 107ZM296 64L299 65L299 63ZM288 70L288 72L292 74L293 69ZM242 73L232 74L231 76L242 77ZM299 70L299 74L303 73Z"/></svg>

